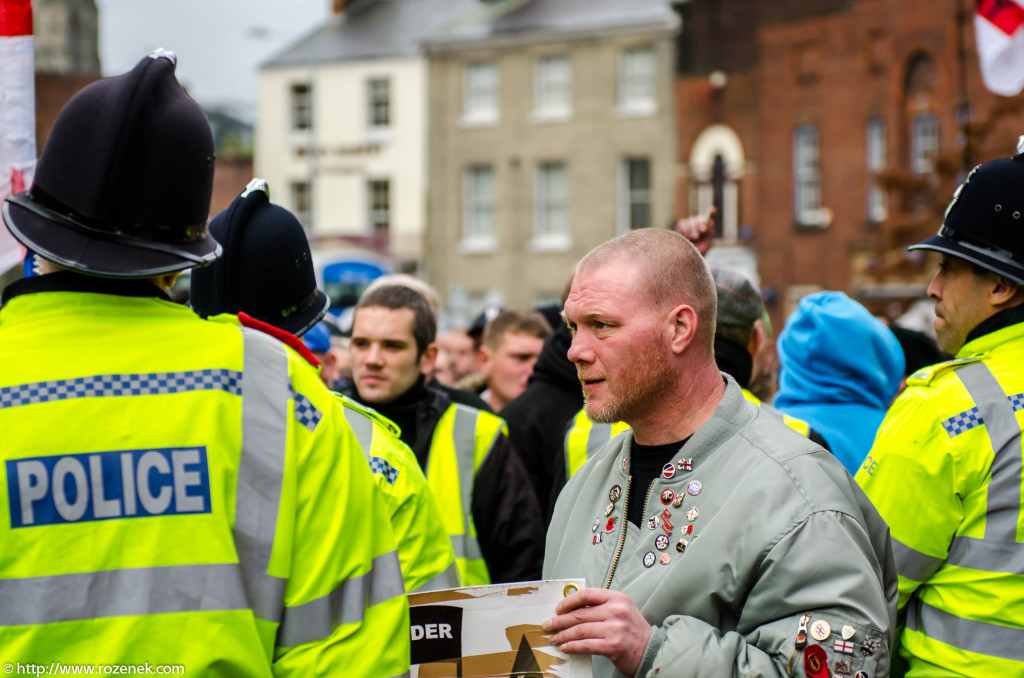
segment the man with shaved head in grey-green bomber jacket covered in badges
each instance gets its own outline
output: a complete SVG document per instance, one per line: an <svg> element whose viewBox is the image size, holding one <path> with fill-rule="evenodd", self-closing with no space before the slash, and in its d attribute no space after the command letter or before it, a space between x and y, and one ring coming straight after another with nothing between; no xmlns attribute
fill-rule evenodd
<svg viewBox="0 0 1024 678"><path fill-rule="evenodd" d="M888 675L885 523L831 455L719 371L716 305L707 263L672 231L580 262L568 357L588 416L631 429L558 498L544 576L595 588L544 631L594 655L598 678Z"/></svg>

